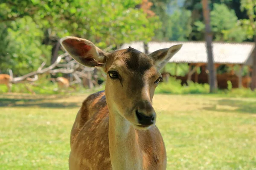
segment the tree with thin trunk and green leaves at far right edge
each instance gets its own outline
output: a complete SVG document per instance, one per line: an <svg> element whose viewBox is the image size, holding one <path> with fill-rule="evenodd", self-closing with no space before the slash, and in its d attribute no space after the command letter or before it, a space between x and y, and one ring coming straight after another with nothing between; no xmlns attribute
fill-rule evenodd
<svg viewBox="0 0 256 170"><path fill-rule="evenodd" d="M255 46L253 49L253 71L251 89L256 89L256 0L241 0L241 10L245 10L249 19L241 20L242 26L247 31L248 38L254 38Z"/></svg>

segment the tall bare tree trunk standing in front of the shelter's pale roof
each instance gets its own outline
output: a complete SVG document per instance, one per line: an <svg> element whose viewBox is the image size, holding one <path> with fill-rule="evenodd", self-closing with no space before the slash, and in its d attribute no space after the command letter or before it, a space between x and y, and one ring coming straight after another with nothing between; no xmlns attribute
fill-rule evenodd
<svg viewBox="0 0 256 170"><path fill-rule="evenodd" d="M202 0L203 5L203 16L204 16L204 23L205 23L205 40L207 45L207 56L208 56L208 63L207 68L209 70L208 80L210 85L210 93L215 93L217 90L217 80L216 80L216 70L213 63L213 56L212 56L212 34L211 34L211 27L210 27L210 15L209 15L209 6L207 0Z"/></svg>

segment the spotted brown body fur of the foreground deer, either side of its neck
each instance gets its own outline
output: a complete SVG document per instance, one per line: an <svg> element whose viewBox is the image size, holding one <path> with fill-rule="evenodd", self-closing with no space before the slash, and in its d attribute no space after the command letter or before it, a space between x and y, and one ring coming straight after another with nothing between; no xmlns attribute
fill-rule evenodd
<svg viewBox="0 0 256 170"><path fill-rule="evenodd" d="M91 94L84 100L72 127L70 169L111 169L108 127L109 111L105 92ZM140 144L139 154L143 158L145 170L166 169L164 142L155 125L148 130L131 129L129 133L131 136L140 136L130 142Z"/></svg>

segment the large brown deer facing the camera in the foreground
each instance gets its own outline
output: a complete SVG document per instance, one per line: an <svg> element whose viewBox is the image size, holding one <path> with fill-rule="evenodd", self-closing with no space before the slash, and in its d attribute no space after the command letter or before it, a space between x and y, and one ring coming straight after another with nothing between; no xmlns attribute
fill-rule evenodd
<svg viewBox="0 0 256 170"><path fill-rule="evenodd" d="M134 48L105 52L79 37L61 46L87 67L107 74L105 90L81 105L70 133L70 170L166 170L166 147L156 126L154 90L160 69L182 44L144 54Z"/></svg>

